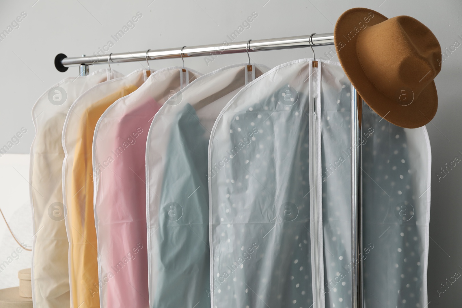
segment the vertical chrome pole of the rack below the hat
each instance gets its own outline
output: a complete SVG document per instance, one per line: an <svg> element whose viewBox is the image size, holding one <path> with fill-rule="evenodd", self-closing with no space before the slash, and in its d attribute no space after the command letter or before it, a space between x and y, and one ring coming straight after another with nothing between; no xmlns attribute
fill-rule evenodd
<svg viewBox="0 0 462 308"><path fill-rule="evenodd" d="M363 308L362 262L362 103L356 89L351 86L351 264L353 308Z"/></svg>

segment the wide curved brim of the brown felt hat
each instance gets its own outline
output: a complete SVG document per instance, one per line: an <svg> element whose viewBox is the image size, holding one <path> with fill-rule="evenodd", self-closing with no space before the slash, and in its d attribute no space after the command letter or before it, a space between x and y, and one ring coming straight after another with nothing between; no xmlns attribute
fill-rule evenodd
<svg viewBox="0 0 462 308"><path fill-rule="evenodd" d="M372 18L369 15L371 12L373 13ZM369 21L366 23L367 18L369 18ZM427 85L418 97L414 97L413 93L407 93L409 95L407 102L410 101L411 103L400 103L377 90L359 62L356 45L358 36L362 31L361 27L363 27L360 27L359 23L361 22L366 27L370 27L387 19L379 12L361 7L344 12L337 20L334 28L337 56L346 76L372 110L399 127L422 127L432 121L438 109L435 82L432 81ZM359 29L359 31L354 31L355 28ZM350 31L353 31L356 35L352 37ZM348 36L348 34L350 35Z"/></svg>

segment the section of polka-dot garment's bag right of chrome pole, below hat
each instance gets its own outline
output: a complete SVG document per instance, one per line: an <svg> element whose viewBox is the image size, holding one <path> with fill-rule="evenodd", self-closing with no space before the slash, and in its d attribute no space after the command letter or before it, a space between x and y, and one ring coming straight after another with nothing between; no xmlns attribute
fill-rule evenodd
<svg viewBox="0 0 462 308"><path fill-rule="evenodd" d="M366 307L427 303L431 149L425 127L397 127L364 104ZM366 254L367 253L367 254Z"/></svg>

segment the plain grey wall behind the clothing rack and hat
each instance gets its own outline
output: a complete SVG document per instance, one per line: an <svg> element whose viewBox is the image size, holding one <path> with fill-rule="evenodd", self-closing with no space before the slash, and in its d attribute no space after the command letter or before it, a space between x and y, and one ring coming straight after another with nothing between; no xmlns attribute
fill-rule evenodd
<svg viewBox="0 0 462 308"><path fill-rule="evenodd" d="M0 147L6 145L21 127L27 133L8 153L28 153L34 137L30 110L36 99L51 85L68 76L76 76L78 68L56 71L53 60L58 53L68 56L93 54L109 40L109 52L169 48L183 45L219 43L236 30L252 12L258 17L244 30L238 41L332 32L336 19L349 8L369 7L385 16L409 15L426 24L438 37L442 49L455 41L462 44L460 0L27 0L1 1L0 31L21 12L27 17L19 28L0 42ZM117 42L111 35L135 16L142 17ZM316 48L322 56L328 48ZM454 50L454 48L453 48ZM299 58L312 57L309 48L267 51L251 54L253 61L276 66ZM221 55L212 63L204 58L186 59L185 64L202 73L243 62L245 54ZM335 58L336 60L336 58ZM181 60L151 61L151 68L180 65ZM112 65L129 73L146 67L146 63ZM103 66L91 67L91 70ZM462 46L447 54L443 70L436 78L439 108L427 125L432 144L432 211L430 220L430 255L428 265L429 307L460 307L462 281L438 297L438 287L455 272L462 273L462 164L444 178L438 171L462 158ZM438 181L439 180L439 181Z"/></svg>

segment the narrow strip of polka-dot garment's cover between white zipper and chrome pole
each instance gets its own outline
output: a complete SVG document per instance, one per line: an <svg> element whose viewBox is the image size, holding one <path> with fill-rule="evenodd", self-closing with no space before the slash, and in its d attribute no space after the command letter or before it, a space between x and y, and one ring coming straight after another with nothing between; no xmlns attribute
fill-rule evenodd
<svg viewBox="0 0 462 308"><path fill-rule="evenodd" d="M351 307L351 84L322 62L321 163L326 307Z"/></svg>

